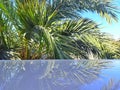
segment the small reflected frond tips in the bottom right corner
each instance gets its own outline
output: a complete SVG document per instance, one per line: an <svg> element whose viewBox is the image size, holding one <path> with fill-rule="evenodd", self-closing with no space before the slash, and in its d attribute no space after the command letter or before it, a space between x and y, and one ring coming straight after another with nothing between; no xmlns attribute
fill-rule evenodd
<svg viewBox="0 0 120 90"><path fill-rule="evenodd" d="M107 85L103 86L102 90L119 90L120 89L120 80L117 83L114 83L111 79Z"/></svg>

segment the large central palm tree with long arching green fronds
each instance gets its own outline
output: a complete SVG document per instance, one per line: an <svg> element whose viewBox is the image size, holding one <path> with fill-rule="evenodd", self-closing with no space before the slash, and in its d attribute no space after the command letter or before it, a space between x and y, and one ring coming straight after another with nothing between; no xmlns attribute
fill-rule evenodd
<svg viewBox="0 0 120 90"><path fill-rule="evenodd" d="M80 13L92 11L108 22L117 21L117 9L106 0L16 0L11 7L14 14L4 9L15 28L21 59L98 56L100 50L94 42L99 42L89 32L99 27Z"/></svg>

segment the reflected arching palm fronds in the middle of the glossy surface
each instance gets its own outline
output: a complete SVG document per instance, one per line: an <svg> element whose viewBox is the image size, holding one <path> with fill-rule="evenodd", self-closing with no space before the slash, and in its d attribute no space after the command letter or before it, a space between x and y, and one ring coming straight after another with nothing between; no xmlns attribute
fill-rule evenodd
<svg viewBox="0 0 120 90"><path fill-rule="evenodd" d="M52 78L54 85L70 85L71 82L85 84L97 79L100 70L106 68L108 63L107 61L55 61L54 66L48 63L49 69L46 68L44 78L40 76L39 79L47 81Z"/></svg>

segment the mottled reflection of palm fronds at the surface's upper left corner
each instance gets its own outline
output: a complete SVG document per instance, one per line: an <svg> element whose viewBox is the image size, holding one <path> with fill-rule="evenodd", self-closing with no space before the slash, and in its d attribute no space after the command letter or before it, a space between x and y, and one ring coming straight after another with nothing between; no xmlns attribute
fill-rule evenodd
<svg viewBox="0 0 120 90"><path fill-rule="evenodd" d="M2 67L1 71L1 76L3 79L8 79L10 80L11 78L14 78L20 70L23 70L24 63L20 61L7 61L7 62L2 62L0 64L0 67Z"/></svg>

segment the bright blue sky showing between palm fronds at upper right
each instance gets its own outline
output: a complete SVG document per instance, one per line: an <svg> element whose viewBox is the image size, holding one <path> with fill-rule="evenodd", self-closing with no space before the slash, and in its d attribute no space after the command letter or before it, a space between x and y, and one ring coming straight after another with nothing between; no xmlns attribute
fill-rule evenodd
<svg viewBox="0 0 120 90"><path fill-rule="evenodd" d="M120 7L120 0L114 0L115 4ZM111 24L107 23L104 18L101 18L96 13L84 13L84 17L90 18L100 24L101 31L107 32L113 35L115 39L120 38L120 14L118 15L118 22L113 21Z"/></svg>

